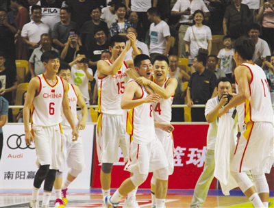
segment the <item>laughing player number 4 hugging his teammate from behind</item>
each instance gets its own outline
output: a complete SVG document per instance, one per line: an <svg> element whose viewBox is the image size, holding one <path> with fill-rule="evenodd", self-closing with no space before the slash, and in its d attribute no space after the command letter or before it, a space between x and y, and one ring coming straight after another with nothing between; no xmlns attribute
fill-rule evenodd
<svg viewBox="0 0 274 208"><path fill-rule="evenodd" d="M177 88L177 79L166 77L167 73L169 73L169 59L165 55L157 55L153 63L153 81L138 76L136 82L151 87L161 96L159 103L152 104L155 133L164 147L166 158L169 161L169 175L171 175L174 170L174 144L171 133L174 127L171 125L171 105ZM155 174L153 174L151 179L152 207L155 207L155 181Z"/></svg>

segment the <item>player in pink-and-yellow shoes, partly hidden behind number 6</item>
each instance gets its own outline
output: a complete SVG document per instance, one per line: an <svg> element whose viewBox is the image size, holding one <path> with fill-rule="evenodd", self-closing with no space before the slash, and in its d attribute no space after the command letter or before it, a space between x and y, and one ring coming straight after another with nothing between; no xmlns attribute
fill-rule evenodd
<svg viewBox="0 0 274 208"><path fill-rule="evenodd" d="M66 63L60 65L58 76L66 80L69 83L71 79L71 66ZM86 119L88 117L88 107L81 94L79 88L71 83L69 83L69 107L73 114L73 120L75 125L77 125L78 130L83 130L86 127ZM81 120L77 118L77 105L82 109ZM63 118L62 120L63 127L63 149L62 149L62 167L56 172L56 178L54 183L55 189L55 207L61 208L67 204L68 200L66 198L66 191L68 190L69 185L73 182L76 177L86 168L84 161L84 148L82 144L82 137L79 134L77 141L73 141L71 138L71 125ZM62 184L62 172L64 171L64 164L68 165L71 168L68 172L66 180ZM63 198L62 198L63 197Z"/></svg>

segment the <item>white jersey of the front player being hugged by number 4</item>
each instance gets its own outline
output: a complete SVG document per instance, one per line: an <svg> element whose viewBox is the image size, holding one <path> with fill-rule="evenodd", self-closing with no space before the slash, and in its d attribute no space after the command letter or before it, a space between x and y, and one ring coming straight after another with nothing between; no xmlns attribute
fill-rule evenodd
<svg viewBox="0 0 274 208"><path fill-rule="evenodd" d="M130 81L134 81L133 79ZM142 96L148 96L143 86ZM126 131L136 144L149 144L155 140L154 118L151 103L143 103L127 111Z"/></svg>

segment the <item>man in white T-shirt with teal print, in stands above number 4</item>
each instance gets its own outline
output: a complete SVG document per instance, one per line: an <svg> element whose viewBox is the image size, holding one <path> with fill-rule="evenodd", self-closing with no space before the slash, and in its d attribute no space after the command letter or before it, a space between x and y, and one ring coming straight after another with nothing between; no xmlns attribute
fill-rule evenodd
<svg viewBox="0 0 274 208"><path fill-rule="evenodd" d="M151 62L153 62L156 55L168 55L171 49L171 33L169 25L162 21L157 8L150 8L147 10L147 18L151 22L149 28L150 44L149 54Z"/></svg>

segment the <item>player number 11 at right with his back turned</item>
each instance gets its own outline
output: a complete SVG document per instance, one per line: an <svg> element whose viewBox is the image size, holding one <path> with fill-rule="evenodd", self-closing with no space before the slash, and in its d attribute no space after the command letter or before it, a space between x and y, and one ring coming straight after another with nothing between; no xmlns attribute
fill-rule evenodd
<svg viewBox="0 0 274 208"><path fill-rule="evenodd" d="M238 111L241 136L230 170L254 207L268 207L269 185L265 173L270 172L274 159L271 97L264 71L252 63L254 42L249 38L239 38L233 48L238 94L234 94L232 101L219 110L219 116L235 106ZM247 177L249 170L255 186Z"/></svg>

